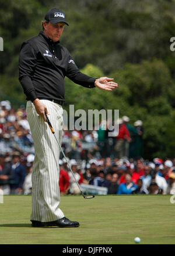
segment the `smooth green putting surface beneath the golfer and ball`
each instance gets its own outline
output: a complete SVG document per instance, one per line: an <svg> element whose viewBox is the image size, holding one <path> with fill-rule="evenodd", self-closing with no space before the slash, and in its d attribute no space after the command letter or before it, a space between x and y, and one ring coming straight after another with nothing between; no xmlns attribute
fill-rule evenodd
<svg viewBox="0 0 175 256"><path fill-rule="evenodd" d="M175 244L170 195L61 196L60 208L78 228L30 224L31 196L4 196L0 244Z"/></svg>

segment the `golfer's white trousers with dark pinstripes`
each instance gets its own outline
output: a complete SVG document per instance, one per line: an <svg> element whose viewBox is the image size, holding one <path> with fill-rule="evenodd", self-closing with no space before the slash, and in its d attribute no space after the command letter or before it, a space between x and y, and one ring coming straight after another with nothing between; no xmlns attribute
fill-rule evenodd
<svg viewBox="0 0 175 256"><path fill-rule="evenodd" d="M55 135L62 141L62 107L48 100L41 100L48 110ZM37 114L34 104L27 101L27 119L34 141L34 163L31 174L32 209L30 220L54 221L64 217L60 204L60 148L48 124Z"/></svg>

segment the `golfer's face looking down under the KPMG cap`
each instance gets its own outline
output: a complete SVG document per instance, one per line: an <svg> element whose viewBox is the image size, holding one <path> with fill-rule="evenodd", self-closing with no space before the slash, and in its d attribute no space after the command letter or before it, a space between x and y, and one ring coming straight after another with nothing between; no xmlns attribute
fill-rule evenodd
<svg viewBox="0 0 175 256"><path fill-rule="evenodd" d="M53 42L57 42L60 40L60 37L62 35L62 32L64 30L65 23L64 22L58 22L56 24L52 24L51 22L44 22L44 33L46 36L48 36L50 39L53 40Z"/></svg>

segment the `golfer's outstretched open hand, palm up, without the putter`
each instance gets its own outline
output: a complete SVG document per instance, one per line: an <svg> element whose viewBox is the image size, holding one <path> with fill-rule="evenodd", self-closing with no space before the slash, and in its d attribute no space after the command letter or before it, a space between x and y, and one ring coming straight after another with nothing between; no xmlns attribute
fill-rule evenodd
<svg viewBox="0 0 175 256"><path fill-rule="evenodd" d="M113 82L114 78L100 77L96 79L95 86L106 91L112 91L118 87L117 83Z"/></svg>

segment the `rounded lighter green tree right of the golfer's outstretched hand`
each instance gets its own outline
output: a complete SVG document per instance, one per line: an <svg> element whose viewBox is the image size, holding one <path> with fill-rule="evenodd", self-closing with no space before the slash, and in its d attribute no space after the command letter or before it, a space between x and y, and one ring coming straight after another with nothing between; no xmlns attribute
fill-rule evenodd
<svg viewBox="0 0 175 256"><path fill-rule="evenodd" d="M141 64L126 64L125 68L110 74L118 82L115 95L127 101L129 108L122 110L130 117L133 124L136 120L143 121L145 158L165 156L170 151L167 138L171 123L171 101L174 81L170 71L162 60L143 61ZM121 109L121 107L119 107ZM166 134L166 139L164 137ZM170 146L171 148L171 146Z"/></svg>

